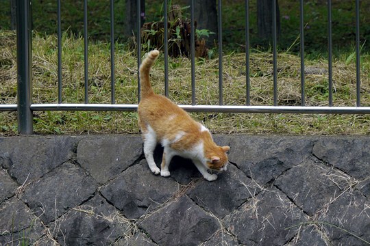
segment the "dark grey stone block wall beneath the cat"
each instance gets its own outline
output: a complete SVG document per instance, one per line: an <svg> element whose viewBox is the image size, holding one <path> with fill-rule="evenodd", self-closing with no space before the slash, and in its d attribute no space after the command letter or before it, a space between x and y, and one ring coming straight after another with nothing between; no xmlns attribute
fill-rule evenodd
<svg viewBox="0 0 370 246"><path fill-rule="evenodd" d="M0 137L0 245L369 244L368 137L214 139L208 182L179 157L154 176L137 135Z"/></svg>

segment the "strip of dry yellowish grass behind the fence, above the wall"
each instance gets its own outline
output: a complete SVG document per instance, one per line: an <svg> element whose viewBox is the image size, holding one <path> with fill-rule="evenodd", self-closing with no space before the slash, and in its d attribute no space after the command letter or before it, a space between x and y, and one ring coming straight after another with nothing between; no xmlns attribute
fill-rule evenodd
<svg viewBox="0 0 370 246"><path fill-rule="evenodd" d="M16 36L0 31L0 103L16 103ZM34 102L58 101L56 36L33 39ZM84 102L84 46L82 38L62 37L62 100ZM334 106L354 106L356 102L356 67L353 55L334 59ZM279 105L300 104L299 57L278 55L277 85ZM116 103L137 102L137 64L135 53L116 44ZM153 87L164 94L164 61L161 56L151 72ZM308 68L321 74L306 74L306 105L328 105L327 61L306 59ZM370 106L370 59L362 56L361 101ZM251 53L251 105L273 104L272 55ZM109 44L89 44L89 102L110 103ZM322 72L323 71L323 72ZM245 104L245 54L223 57L223 99L225 105ZM195 66L196 98L199 105L217 105L218 59L197 59ZM169 58L169 98L178 104L191 102L190 60ZM35 111L36 133L138 133L136 113ZM294 115L262 113L192 113L214 133L279 134L369 134L370 115ZM0 113L0 135L16 133L16 113Z"/></svg>

